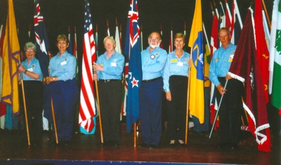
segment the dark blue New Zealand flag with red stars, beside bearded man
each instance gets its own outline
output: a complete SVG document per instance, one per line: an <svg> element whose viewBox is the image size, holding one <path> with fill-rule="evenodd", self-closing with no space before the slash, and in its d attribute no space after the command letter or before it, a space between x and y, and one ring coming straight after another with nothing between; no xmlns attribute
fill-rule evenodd
<svg viewBox="0 0 281 165"><path fill-rule="evenodd" d="M138 90L141 87L143 79L141 69L141 41L140 28L138 27L138 3L137 0L131 0L128 13L126 39L124 54L129 65L126 65L126 84L128 85L128 94L126 98L126 130L131 132L132 124L139 119L139 100ZM128 71L126 73L126 70Z"/></svg>

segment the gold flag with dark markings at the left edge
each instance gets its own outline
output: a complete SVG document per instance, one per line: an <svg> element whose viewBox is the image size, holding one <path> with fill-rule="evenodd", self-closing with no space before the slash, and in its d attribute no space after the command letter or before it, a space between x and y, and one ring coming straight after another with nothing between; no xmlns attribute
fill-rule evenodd
<svg viewBox="0 0 281 165"><path fill-rule="evenodd" d="M17 26L15 24L15 13L13 1L8 0L8 14L3 44L3 77L1 102L10 105L14 114L20 112L18 95L18 67L20 55L20 44L18 43Z"/></svg>

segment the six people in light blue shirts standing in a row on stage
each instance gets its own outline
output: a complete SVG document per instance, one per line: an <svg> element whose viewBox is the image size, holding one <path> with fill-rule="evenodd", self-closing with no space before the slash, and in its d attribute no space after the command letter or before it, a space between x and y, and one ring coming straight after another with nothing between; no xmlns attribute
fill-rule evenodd
<svg viewBox="0 0 281 165"><path fill-rule="evenodd" d="M221 105L220 133L221 145L228 143L237 147L239 128L239 110L242 84L228 76L228 70L236 46L230 44L228 29L219 31L218 39L221 48L214 53L209 69L210 79L217 87L216 98L226 95ZM148 37L148 48L141 52L143 80L140 86L140 121L141 138L140 147L159 147L162 135L162 98L163 90L167 100L167 137L169 145L176 143L185 146L185 119L188 91L188 72L191 65L190 54L183 50L185 35L178 33L174 37L175 50L169 54L159 47L161 44L159 32L152 32ZM103 44L105 53L93 62L93 80L98 81L100 98L100 115L103 125L103 145L119 146L120 111L122 107L122 73L124 71L124 55L115 51L115 39L105 37ZM74 124L74 110L78 101L78 87L75 79L77 67L76 58L67 52L69 46L67 37L59 35L57 47L59 52L50 60L48 66L49 77L46 84L51 91L51 102L55 112L55 121L59 143L69 143L72 138ZM26 90L27 111L29 120L34 125L34 140L38 140L41 123L41 110L43 102L43 75L39 62L34 58L36 47L32 43L25 45L27 59L22 62L19 71L23 74ZM209 79L205 79L208 81ZM228 88L224 88L226 80ZM235 84L235 86L233 85ZM34 88L34 86L37 86ZM239 90L238 90L239 88ZM205 95L209 99L209 87ZM227 91L227 92L226 92ZM238 92L239 91L239 92ZM34 104L34 98L37 99ZM204 98L202 98L204 99ZM38 101L40 100L40 101ZM209 100L205 100L209 103ZM242 103L241 103L242 105ZM31 113L31 114L29 114ZM205 104L205 123L200 126L195 122L195 131L209 131L209 105ZM237 118L238 117L238 118ZM198 121L198 119L197 119ZM37 133L35 133L37 132ZM220 146L221 146L220 145Z"/></svg>

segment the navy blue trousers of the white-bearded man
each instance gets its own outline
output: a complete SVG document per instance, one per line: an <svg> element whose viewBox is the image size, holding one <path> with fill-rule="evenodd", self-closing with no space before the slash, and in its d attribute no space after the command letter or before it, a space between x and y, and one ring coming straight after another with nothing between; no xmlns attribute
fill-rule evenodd
<svg viewBox="0 0 281 165"><path fill-rule="evenodd" d="M159 145L162 132L162 77L140 88L141 136L146 145Z"/></svg>

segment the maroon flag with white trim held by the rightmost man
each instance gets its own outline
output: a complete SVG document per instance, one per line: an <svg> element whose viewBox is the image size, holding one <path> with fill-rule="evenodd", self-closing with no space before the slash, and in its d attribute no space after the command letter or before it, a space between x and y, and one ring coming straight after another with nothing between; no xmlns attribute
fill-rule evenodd
<svg viewBox="0 0 281 165"><path fill-rule="evenodd" d="M270 133L263 92L261 67L256 55L251 9L248 11L229 74L244 81L244 109L249 116L249 131L256 136L259 150L270 151Z"/></svg>

